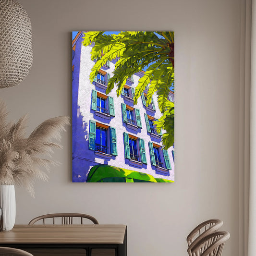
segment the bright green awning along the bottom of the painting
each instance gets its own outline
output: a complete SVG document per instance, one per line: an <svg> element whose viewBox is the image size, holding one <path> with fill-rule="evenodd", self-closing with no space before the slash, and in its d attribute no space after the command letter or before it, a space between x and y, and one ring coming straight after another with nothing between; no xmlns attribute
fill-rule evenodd
<svg viewBox="0 0 256 256"><path fill-rule="evenodd" d="M86 182L165 182L172 183L174 181L154 178L152 175L139 172L122 169L106 164L98 164L91 168L88 173Z"/></svg>

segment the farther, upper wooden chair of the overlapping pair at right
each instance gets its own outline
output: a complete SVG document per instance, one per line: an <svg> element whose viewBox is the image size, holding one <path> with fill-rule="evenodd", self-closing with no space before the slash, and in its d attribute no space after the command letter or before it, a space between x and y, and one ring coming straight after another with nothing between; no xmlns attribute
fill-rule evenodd
<svg viewBox="0 0 256 256"><path fill-rule="evenodd" d="M223 225L223 221L219 219L208 219L202 223L200 223L198 226L195 227L194 230L192 230L189 235L187 236L187 244L188 244L188 255L189 256L195 256L191 252L192 247L198 243L202 238L207 236L208 234L211 234L213 232L216 232L219 230L219 228Z"/></svg>

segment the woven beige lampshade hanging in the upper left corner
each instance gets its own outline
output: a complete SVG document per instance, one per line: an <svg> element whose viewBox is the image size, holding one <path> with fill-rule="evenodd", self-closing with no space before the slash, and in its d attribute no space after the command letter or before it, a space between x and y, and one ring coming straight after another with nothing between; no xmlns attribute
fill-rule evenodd
<svg viewBox="0 0 256 256"><path fill-rule="evenodd" d="M30 19L16 0L0 0L0 88L21 83L33 61Z"/></svg>

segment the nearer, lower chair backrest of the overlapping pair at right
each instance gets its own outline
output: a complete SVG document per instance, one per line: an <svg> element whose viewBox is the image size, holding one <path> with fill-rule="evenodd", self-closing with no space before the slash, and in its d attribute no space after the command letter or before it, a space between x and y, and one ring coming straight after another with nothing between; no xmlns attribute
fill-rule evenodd
<svg viewBox="0 0 256 256"><path fill-rule="evenodd" d="M225 242L230 238L227 231L217 231L205 236L193 248L195 256L221 256Z"/></svg>

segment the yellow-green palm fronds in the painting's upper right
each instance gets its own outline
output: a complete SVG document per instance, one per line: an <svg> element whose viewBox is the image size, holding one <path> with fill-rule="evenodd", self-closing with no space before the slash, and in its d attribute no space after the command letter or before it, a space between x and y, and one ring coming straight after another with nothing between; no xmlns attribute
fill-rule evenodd
<svg viewBox="0 0 256 256"><path fill-rule="evenodd" d="M166 133L162 135L165 149L174 143L174 103L169 100L170 91L174 91L174 32L120 32L118 35L106 35L103 31L87 32L84 46L95 45L91 59L97 59L90 74L93 81L99 69L117 59L113 77L108 81L106 93L117 85L117 96L122 92L126 81L134 73L146 70L135 88L134 104L148 86L146 105L151 102L154 93L158 95L158 107L162 113L157 125Z"/></svg>

